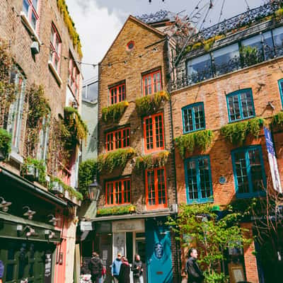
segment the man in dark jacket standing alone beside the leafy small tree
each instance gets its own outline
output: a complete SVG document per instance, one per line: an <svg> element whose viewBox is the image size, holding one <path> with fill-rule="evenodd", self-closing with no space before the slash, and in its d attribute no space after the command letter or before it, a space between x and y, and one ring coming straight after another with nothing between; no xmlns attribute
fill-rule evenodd
<svg viewBox="0 0 283 283"><path fill-rule="evenodd" d="M204 275L197 264L197 249L190 248L187 259L187 283L202 283Z"/></svg>

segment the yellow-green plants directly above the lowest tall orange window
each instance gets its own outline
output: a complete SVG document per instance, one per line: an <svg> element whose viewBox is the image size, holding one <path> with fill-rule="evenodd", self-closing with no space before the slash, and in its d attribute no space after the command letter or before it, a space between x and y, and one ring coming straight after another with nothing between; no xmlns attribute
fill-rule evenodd
<svg viewBox="0 0 283 283"><path fill-rule="evenodd" d="M137 169L152 169L154 167L162 167L168 161L169 151L161 151L158 154L147 154L137 156L135 166Z"/></svg>

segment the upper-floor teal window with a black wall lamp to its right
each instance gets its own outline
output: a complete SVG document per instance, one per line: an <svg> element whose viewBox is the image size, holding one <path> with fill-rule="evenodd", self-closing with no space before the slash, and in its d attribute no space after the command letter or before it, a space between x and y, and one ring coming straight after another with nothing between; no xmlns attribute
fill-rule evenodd
<svg viewBox="0 0 283 283"><path fill-rule="evenodd" d="M255 116L253 93L250 88L229 93L226 96L229 122L247 119Z"/></svg>

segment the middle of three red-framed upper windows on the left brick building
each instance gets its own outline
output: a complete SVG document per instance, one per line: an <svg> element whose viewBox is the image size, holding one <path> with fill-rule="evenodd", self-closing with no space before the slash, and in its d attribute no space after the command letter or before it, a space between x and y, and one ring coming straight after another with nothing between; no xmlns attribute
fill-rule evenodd
<svg viewBox="0 0 283 283"><path fill-rule="evenodd" d="M55 28L54 24L52 23L51 26L51 35L50 35L50 62L57 73L60 73L60 57L61 57L61 49L62 49L62 41Z"/></svg>

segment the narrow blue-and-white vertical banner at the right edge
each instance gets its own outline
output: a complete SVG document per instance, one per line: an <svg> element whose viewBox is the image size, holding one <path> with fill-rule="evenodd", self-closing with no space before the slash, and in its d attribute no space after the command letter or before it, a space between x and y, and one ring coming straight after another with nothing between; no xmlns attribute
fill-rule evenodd
<svg viewBox="0 0 283 283"><path fill-rule="evenodd" d="M271 132L266 127L264 127L264 129L265 129L265 141L267 147L268 161L270 163L270 173L272 177L273 188L277 192L282 192L278 165L277 165L277 158L275 156L275 149L272 141Z"/></svg>

